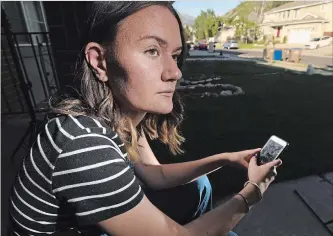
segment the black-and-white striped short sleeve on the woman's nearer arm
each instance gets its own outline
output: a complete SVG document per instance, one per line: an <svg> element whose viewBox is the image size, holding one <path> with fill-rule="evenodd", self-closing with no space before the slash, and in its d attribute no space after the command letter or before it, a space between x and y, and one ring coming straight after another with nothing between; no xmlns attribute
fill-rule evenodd
<svg viewBox="0 0 333 236"><path fill-rule="evenodd" d="M57 199L75 214L78 225L92 225L135 207L143 191L126 155L107 136L70 141L52 175Z"/></svg>

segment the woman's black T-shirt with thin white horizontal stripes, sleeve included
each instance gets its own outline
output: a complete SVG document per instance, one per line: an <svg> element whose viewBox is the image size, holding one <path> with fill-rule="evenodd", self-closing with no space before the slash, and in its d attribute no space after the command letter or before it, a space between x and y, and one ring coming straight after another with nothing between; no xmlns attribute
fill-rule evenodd
<svg viewBox="0 0 333 236"><path fill-rule="evenodd" d="M57 116L24 158L10 197L14 235L84 228L143 198L124 144L88 116Z"/></svg>

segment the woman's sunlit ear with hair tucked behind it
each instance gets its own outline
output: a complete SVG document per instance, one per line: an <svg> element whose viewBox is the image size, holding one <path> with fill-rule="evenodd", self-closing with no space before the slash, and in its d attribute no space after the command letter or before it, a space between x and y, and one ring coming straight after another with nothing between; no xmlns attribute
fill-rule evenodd
<svg viewBox="0 0 333 236"><path fill-rule="evenodd" d="M98 43L90 42L86 45L84 52L88 66L96 77L102 82L108 81L103 47Z"/></svg>

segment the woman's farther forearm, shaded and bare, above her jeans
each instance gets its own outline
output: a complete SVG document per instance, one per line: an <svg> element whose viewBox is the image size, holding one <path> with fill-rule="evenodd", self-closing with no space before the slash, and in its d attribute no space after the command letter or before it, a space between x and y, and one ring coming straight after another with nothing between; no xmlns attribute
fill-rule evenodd
<svg viewBox="0 0 333 236"><path fill-rule="evenodd" d="M175 164L135 164L138 177L153 189L172 188L211 173L227 163L227 154L217 154L196 161Z"/></svg>

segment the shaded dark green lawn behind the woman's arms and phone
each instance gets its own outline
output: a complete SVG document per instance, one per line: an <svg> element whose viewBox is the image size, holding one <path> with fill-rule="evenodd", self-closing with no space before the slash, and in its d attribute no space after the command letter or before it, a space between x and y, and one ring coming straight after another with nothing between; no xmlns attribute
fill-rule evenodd
<svg viewBox="0 0 333 236"><path fill-rule="evenodd" d="M186 62L183 77L240 86L245 95L185 97L187 139L182 156L172 157L153 143L162 162L194 160L219 152L261 147L275 134L290 143L277 181L333 170L333 80L300 75L254 62ZM222 168L210 175L215 194L237 191L244 171Z"/></svg>

